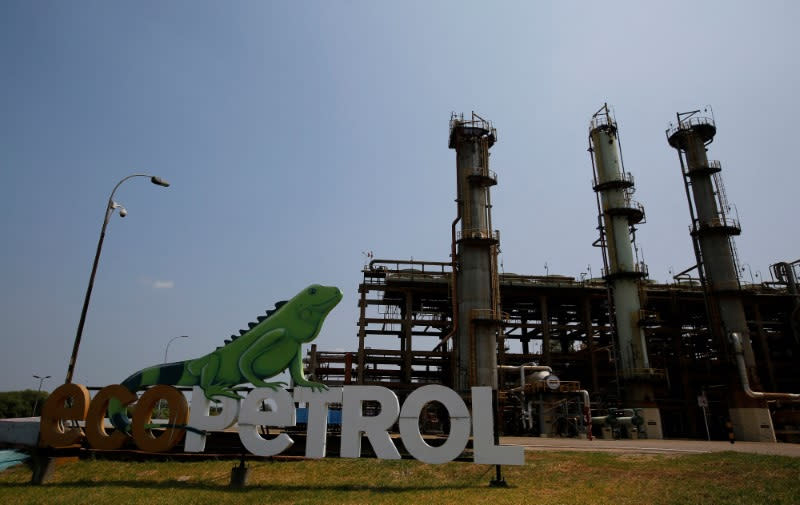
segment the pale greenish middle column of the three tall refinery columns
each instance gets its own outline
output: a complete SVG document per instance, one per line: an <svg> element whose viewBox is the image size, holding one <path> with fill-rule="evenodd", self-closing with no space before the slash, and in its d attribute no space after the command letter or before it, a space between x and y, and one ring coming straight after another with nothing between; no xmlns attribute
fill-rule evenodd
<svg viewBox="0 0 800 505"><path fill-rule="evenodd" d="M594 190L600 211L600 244L604 277L612 293L619 373L624 381L626 407L641 409L648 438L663 438L661 415L655 403L653 371L647 357L644 332L639 325L641 279L644 263L634 258L634 226L644 219L644 208L631 199L633 176L621 162L617 124L603 105L589 127L589 151L594 167Z"/></svg>

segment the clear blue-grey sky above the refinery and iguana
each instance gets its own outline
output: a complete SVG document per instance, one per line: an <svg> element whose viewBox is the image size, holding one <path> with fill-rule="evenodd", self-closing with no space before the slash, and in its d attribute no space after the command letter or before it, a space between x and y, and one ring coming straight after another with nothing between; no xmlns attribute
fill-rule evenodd
<svg viewBox="0 0 800 505"><path fill-rule="evenodd" d="M311 283L355 350L362 251L446 261L451 111L494 122L506 272L598 275L591 115L608 102L651 277L694 264L675 113L713 106L739 256L800 257L797 2L0 2L0 390L198 357ZM388 344L388 343L387 343ZM391 343L392 345L394 342Z"/></svg>

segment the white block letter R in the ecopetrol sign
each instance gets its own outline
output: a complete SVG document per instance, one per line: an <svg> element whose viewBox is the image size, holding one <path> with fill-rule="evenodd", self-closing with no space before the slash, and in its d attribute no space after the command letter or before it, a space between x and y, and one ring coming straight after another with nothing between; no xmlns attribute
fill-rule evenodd
<svg viewBox="0 0 800 505"><path fill-rule="evenodd" d="M361 402L380 404L377 416L362 415ZM342 450L343 458L361 456L361 434L366 433L375 455L380 459L400 459L388 429L397 420L400 403L397 396L383 386L347 386L342 394Z"/></svg>

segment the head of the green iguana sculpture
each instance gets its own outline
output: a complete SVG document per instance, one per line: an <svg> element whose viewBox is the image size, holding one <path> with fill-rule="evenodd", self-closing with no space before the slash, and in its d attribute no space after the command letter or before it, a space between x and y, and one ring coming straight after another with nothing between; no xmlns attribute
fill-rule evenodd
<svg viewBox="0 0 800 505"><path fill-rule="evenodd" d="M283 314L288 312L293 324L297 325L296 329L299 331L293 331L291 334L299 342L310 342L319 333L325 316L341 299L342 292L339 288L312 284L282 306L280 312Z"/></svg>

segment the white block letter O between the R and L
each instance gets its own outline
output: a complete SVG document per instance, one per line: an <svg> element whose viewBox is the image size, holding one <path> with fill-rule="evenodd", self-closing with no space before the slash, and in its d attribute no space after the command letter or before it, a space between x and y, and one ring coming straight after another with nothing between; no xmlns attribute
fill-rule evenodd
<svg viewBox="0 0 800 505"><path fill-rule="evenodd" d="M425 404L439 402L450 414L450 434L440 447L431 447L419 432L419 413ZM400 411L400 436L406 450L425 463L447 463L464 451L469 440L469 411L461 397L450 388L423 386L410 395Z"/></svg>

